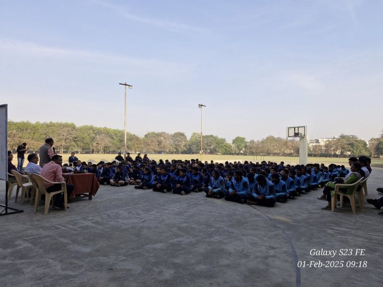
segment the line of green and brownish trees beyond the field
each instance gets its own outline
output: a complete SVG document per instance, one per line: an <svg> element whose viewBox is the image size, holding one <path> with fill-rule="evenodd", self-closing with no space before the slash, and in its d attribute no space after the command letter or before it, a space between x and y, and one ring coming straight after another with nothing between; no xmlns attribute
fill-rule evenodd
<svg viewBox="0 0 383 287"><path fill-rule="evenodd" d="M76 126L67 122L8 122L9 149L15 150L20 143L26 142L30 151L38 151L47 137L55 140L56 151L60 153L116 153L124 150L124 131L121 129ZM299 142L295 139L268 136L262 140L247 141L238 136L229 143L216 135L204 135L202 140L205 154L299 155ZM200 143L200 133L193 133L189 139L183 132L149 132L142 138L127 134L127 147L131 153L197 154L200 152ZM313 156L343 157L361 154L374 157L382 155L383 135L371 139L368 146L364 140L352 135L341 135L327 141L324 146L309 146L309 155Z"/></svg>

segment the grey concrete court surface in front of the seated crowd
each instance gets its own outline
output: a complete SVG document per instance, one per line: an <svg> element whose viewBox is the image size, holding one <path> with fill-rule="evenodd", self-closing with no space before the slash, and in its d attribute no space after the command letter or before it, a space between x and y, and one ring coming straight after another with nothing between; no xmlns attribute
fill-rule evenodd
<svg viewBox="0 0 383 287"><path fill-rule="evenodd" d="M321 189L268 208L102 186L47 215L14 192L24 212L0 217L0 286L382 286L383 216L366 203L382 178L375 168L355 215L321 210Z"/></svg>

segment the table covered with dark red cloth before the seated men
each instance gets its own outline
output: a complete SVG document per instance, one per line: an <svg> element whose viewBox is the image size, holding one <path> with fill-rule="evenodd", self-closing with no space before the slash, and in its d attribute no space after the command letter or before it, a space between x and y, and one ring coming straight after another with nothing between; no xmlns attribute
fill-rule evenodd
<svg viewBox="0 0 383 287"><path fill-rule="evenodd" d="M75 187L70 198L80 196L92 200L92 195L95 195L100 188L99 181L93 173L63 173L63 177L67 184Z"/></svg>

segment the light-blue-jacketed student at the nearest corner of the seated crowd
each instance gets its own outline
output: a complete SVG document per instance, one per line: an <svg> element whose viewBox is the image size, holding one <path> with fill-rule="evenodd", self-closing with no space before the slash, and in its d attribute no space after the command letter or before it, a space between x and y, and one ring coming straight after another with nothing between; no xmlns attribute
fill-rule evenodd
<svg viewBox="0 0 383 287"><path fill-rule="evenodd" d="M275 204L275 191L273 182L270 182L262 174L258 175L255 191L250 195L248 204L257 204L262 206L274 206Z"/></svg>

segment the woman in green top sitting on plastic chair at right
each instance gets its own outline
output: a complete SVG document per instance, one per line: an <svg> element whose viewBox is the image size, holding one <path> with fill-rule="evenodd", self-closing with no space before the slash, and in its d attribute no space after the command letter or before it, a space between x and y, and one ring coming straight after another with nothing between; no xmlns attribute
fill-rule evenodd
<svg viewBox="0 0 383 287"><path fill-rule="evenodd" d="M327 205L322 207L321 208L322 210L331 210L331 195L334 194L336 184L352 185L356 181L361 179L363 176L365 176L365 173L361 168L362 168L361 164L353 163L351 165L351 172L347 173L343 182L339 182L339 181L338 182L337 181L327 182L327 184L325 185L324 190L323 190L323 194L326 195ZM340 188L339 191L343 192L344 194L351 194L353 188L354 187ZM346 199L346 198L344 198L344 199Z"/></svg>

